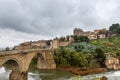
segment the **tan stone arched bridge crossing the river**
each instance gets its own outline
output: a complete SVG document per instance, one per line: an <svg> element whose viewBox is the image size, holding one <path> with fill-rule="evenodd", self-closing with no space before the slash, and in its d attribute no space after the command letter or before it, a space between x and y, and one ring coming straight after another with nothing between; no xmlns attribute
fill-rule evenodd
<svg viewBox="0 0 120 80"><path fill-rule="evenodd" d="M9 60L15 61L18 65L18 70L12 70L9 80L28 80L29 65L36 55L38 56L37 67L39 69L56 68L51 49L1 51L0 67Z"/></svg>

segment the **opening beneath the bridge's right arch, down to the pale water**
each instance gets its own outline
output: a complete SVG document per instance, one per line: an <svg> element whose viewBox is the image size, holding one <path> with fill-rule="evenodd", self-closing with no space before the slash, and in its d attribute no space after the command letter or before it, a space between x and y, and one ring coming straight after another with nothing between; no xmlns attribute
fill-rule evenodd
<svg viewBox="0 0 120 80"><path fill-rule="evenodd" d="M42 80L39 72L41 70L46 70L45 64L46 64L45 58L41 54L37 53L30 62L28 68L29 75L31 75L32 78L34 78L35 80Z"/></svg>

